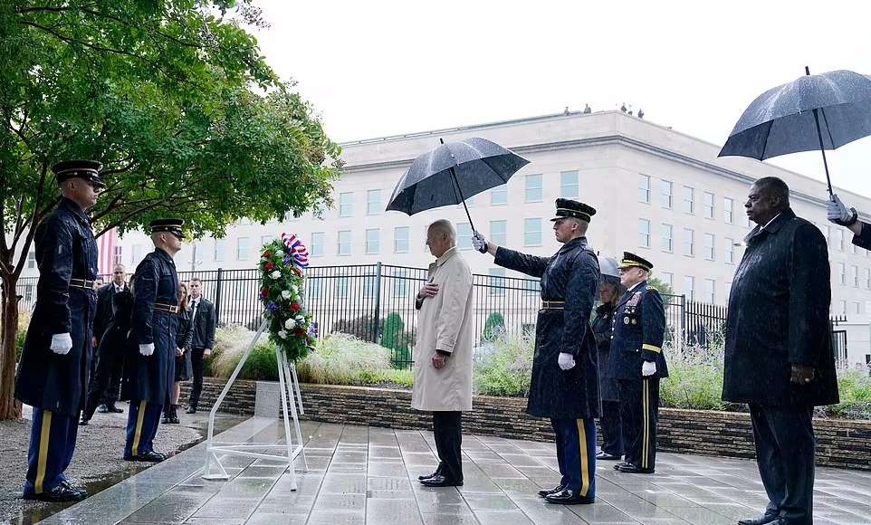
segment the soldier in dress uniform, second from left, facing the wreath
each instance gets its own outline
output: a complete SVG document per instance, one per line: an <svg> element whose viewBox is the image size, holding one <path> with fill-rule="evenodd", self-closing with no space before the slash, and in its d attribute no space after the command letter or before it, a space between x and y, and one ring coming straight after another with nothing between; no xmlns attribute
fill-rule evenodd
<svg viewBox="0 0 871 525"><path fill-rule="evenodd" d="M124 367L121 395L130 400L124 459L161 462L154 450L163 405L172 398L175 384L178 275L173 256L185 234L182 219L152 221L148 253L133 274L133 313L129 360Z"/></svg>

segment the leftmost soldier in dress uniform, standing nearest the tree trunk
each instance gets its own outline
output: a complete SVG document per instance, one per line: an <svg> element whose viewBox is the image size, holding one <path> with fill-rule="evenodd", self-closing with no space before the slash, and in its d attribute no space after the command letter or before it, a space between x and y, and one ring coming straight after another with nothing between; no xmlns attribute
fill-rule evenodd
<svg viewBox="0 0 871 525"><path fill-rule="evenodd" d="M97 243L85 211L105 186L102 165L70 160L52 167L61 203L36 226L34 315L15 377L15 397L34 407L24 499L78 501L87 496L67 482L78 415L91 370L91 323L97 308Z"/></svg>

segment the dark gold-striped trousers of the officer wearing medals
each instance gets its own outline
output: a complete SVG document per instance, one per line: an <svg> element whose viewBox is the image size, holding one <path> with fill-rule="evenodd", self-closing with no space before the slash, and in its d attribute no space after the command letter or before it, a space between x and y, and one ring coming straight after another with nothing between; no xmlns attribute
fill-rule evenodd
<svg viewBox="0 0 871 525"><path fill-rule="evenodd" d="M659 377L620 379L620 409L626 463L656 468L656 420L659 416Z"/></svg>

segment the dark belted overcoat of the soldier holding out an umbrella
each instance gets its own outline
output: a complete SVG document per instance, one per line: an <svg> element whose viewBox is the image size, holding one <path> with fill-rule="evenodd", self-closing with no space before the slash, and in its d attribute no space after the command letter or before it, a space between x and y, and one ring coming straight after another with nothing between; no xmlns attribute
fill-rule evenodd
<svg viewBox="0 0 871 525"><path fill-rule="evenodd" d="M529 415L553 419L598 417L598 355L589 318L598 290L598 259L579 237L551 257L537 257L500 247L496 264L541 277L542 301L565 301L564 309L539 310L535 323ZM575 366L560 369L560 352L572 354Z"/></svg>

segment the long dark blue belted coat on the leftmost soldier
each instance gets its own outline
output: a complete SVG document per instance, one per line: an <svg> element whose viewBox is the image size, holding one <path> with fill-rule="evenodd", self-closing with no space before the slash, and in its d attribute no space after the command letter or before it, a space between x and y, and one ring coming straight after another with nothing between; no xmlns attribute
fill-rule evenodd
<svg viewBox="0 0 871 525"><path fill-rule="evenodd" d="M15 397L26 405L78 416L88 391L97 297L93 290L71 287L70 280L97 277L97 243L87 215L66 198L36 227L34 239L39 282ZM59 356L50 346L52 336L62 333L72 337L72 349Z"/></svg>

